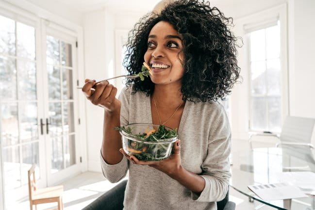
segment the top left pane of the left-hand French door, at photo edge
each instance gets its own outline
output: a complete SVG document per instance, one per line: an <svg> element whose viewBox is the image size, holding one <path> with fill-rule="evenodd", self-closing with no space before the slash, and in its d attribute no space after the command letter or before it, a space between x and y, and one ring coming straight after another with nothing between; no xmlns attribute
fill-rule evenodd
<svg viewBox="0 0 315 210"><path fill-rule="evenodd" d="M14 20L0 16L0 53L16 54L16 24Z"/></svg>

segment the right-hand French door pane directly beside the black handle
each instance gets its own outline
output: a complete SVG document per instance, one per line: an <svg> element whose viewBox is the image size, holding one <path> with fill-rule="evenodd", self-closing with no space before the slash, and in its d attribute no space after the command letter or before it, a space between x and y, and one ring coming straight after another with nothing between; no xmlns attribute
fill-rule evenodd
<svg viewBox="0 0 315 210"><path fill-rule="evenodd" d="M61 103L49 104L49 133L50 137L62 135L62 118L61 118Z"/></svg>

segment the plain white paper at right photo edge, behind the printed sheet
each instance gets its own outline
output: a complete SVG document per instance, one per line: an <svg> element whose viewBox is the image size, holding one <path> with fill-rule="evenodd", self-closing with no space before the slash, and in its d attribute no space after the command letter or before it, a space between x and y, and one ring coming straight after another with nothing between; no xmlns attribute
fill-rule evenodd
<svg viewBox="0 0 315 210"><path fill-rule="evenodd" d="M298 186L304 193L315 191L315 173L311 171L282 172L278 180Z"/></svg>

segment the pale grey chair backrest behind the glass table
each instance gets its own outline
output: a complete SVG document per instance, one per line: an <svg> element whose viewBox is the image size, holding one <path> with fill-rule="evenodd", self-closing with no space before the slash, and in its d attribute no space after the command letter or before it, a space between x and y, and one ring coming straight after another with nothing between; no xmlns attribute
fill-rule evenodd
<svg viewBox="0 0 315 210"><path fill-rule="evenodd" d="M280 141L311 143L315 119L287 116L284 120Z"/></svg>

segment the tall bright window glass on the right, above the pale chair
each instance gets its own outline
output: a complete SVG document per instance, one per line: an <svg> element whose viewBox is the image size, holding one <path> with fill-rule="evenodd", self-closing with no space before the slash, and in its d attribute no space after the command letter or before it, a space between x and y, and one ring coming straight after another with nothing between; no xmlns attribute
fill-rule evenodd
<svg viewBox="0 0 315 210"><path fill-rule="evenodd" d="M249 33L250 130L280 132L280 21Z"/></svg>

